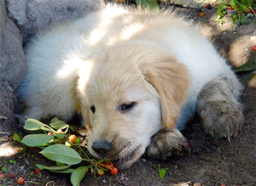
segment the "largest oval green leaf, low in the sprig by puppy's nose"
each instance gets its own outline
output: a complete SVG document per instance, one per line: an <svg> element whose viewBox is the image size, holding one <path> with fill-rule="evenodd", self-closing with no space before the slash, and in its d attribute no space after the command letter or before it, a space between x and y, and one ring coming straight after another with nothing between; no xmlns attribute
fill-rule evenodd
<svg viewBox="0 0 256 186"><path fill-rule="evenodd" d="M58 161L67 165L79 164L83 159L74 149L64 144L53 144L40 152L51 161Z"/></svg>

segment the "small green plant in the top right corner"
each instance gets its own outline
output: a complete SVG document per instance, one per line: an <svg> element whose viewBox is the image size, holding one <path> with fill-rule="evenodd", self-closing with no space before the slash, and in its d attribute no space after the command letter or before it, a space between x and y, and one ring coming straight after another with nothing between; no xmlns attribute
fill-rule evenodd
<svg viewBox="0 0 256 186"><path fill-rule="evenodd" d="M238 23L247 24L249 18L246 16L246 14L248 13L253 14L254 20L255 20L255 17L256 17L256 1L255 0L231 0L229 3L230 3L230 7L228 7L223 3L220 3L218 5L218 10L217 10L218 23L224 23L224 20L222 20L222 18L227 13L227 8L236 10L236 14L233 14L231 18L235 25Z"/></svg>

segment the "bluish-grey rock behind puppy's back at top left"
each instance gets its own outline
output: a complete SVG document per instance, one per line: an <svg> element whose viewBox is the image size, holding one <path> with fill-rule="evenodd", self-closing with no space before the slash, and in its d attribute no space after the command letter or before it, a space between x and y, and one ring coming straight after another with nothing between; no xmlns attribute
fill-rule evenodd
<svg viewBox="0 0 256 186"><path fill-rule="evenodd" d="M84 16L102 7L104 0L6 0L9 17L15 19L23 37L46 25Z"/></svg>

